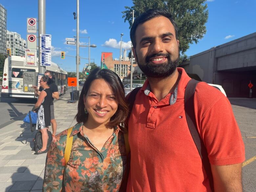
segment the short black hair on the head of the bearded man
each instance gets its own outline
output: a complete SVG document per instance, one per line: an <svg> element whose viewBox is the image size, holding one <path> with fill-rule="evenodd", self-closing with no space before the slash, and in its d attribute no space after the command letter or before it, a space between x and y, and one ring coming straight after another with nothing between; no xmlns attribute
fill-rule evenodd
<svg viewBox="0 0 256 192"><path fill-rule="evenodd" d="M133 25L132 25L131 31L130 31L130 38L131 38L134 48L136 48L135 32L136 32L138 25L142 24L150 19L153 19L155 17L159 17L159 16L167 17L171 21L171 23L173 24L173 27L175 29L176 39L178 39L178 36L177 36L178 28L177 28L176 22L174 21L171 13L167 9L150 9L150 10L145 11L141 15L139 15L139 17L137 17L133 22Z"/></svg>

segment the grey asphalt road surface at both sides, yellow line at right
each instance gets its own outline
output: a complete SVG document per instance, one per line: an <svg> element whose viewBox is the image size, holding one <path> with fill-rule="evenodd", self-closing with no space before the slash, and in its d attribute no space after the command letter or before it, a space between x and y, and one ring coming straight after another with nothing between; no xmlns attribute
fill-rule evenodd
<svg viewBox="0 0 256 192"><path fill-rule="evenodd" d="M70 94L70 91L71 88L66 94ZM256 99L229 98L229 101L245 143L246 161L242 170L244 192L256 192ZM17 118L25 117L35 102L30 99L1 98L0 129Z"/></svg>

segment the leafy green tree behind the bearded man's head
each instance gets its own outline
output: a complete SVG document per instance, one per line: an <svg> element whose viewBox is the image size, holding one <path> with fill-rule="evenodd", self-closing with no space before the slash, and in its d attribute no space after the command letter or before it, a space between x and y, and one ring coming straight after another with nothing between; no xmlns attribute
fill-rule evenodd
<svg viewBox="0 0 256 192"><path fill-rule="evenodd" d="M134 6L125 6L123 11L124 22L132 25L132 10L134 17L138 17L149 9L168 9L175 19L178 27L180 51L183 55L189 44L197 43L206 33L205 23L208 19L206 0L133 0Z"/></svg>

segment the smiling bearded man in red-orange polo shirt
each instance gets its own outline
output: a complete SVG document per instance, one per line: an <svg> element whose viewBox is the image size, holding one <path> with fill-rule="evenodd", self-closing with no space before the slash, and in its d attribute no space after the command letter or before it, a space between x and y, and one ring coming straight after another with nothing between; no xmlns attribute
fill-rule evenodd
<svg viewBox="0 0 256 192"><path fill-rule="evenodd" d="M190 77L177 68L177 26L165 10L134 21L133 53L147 76L128 122L131 169L128 192L211 191L188 129L184 91ZM228 99L204 82L194 95L198 132L208 152L214 191L242 192L245 148Z"/></svg>

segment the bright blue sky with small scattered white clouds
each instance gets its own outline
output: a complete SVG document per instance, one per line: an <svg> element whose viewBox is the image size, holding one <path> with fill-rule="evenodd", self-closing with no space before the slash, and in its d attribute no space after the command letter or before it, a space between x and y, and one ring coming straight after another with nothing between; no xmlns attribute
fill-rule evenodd
<svg viewBox="0 0 256 192"><path fill-rule="evenodd" d="M7 30L18 32L26 39L27 17L38 17L38 0L1 0L7 9ZM132 0L80 0L80 37L89 37L91 58L100 65L101 52L112 52L113 58L120 55L120 34L123 33L123 47L129 47L129 24L124 23L121 11L131 7ZM209 17L206 34L198 44L190 45L188 56L203 52L211 47L256 32L256 0L208 0ZM66 45L65 38L76 35L76 0L46 0L46 34L52 35L52 61L67 71L76 71L75 58L60 58L60 52L76 55L76 46ZM82 45L88 45L88 38L80 38ZM128 53L128 51L127 51ZM79 55L88 58L88 48L79 48ZM91 60L92 61L92 60ZM88 59L81 59L79 71Z"/></svg>

